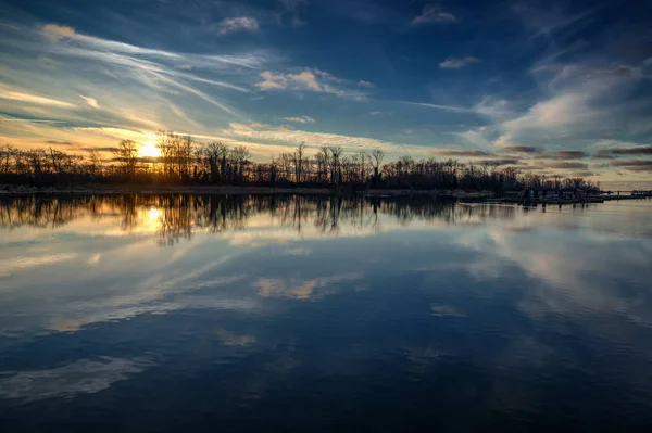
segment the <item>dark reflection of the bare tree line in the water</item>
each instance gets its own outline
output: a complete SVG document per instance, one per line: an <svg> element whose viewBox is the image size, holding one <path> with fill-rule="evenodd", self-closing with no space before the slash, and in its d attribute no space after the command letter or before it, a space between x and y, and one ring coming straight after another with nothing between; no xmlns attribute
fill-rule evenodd
<svg viewBox="0 0 652 433"><path fill-rule="evenodd" d="M155 218L151 217L155 209ZM481 224L514 218L516 208L461 205L415 198L340 198L328 195L190 195L125 194L85 196L14 196L0 200L0 228L28 225L58 228L73 220L114 218L125 232L151 231L161 245L190 239L197 230L212 233L244 230L252 217L291 227L298 235L314 228L338 235L342 226L354 230L381 229L383 219L402 226L415 220ZM311 229L312 230L312 229Z"/></svg>

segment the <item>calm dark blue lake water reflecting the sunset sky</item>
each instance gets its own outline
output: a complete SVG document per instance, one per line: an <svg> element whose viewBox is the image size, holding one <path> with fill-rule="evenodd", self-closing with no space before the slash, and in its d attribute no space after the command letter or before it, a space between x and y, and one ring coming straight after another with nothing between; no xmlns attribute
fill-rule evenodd
<svg viewBox="0 0 652 433"><path fill-rule="evenodd" d="M0 425L652 431L651 215L0 201Z"/></svg>

